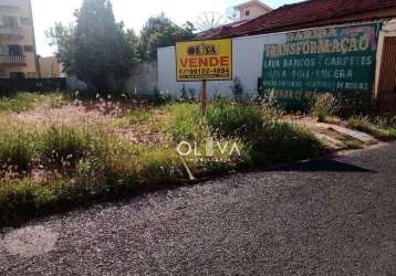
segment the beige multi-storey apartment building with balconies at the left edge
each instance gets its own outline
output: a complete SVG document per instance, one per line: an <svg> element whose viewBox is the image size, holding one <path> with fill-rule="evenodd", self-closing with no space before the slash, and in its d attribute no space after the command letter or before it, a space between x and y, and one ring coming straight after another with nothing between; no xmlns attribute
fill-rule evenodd
<svg viewBox="0 0 396 276"><path fill-rule="evenodd" d="M0 0L0 78L39 77L30 0Z"/></svg>

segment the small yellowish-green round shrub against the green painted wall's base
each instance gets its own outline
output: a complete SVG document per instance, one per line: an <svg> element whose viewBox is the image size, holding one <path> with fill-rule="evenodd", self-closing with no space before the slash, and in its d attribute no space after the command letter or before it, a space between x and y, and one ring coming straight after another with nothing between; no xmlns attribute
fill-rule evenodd
<svg viewBox="0 0 396 276"><path fill-rule="evenodd" d="M320 94L313 99L311 114L319 121L324 121L327 117L333 116L337 112L337 99L332 94Z"/></svg>

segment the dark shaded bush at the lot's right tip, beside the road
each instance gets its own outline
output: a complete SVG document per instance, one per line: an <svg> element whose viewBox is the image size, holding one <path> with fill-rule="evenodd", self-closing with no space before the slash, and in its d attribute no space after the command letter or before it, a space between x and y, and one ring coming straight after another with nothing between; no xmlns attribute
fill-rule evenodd
<svg viewBox="0 0 396 276"><path fill-rule="evenodd" d="M257 167L277 162L303 160L323 150L322 144L308 129L281 123L267 125L252 141L251 161Z"/></svg>

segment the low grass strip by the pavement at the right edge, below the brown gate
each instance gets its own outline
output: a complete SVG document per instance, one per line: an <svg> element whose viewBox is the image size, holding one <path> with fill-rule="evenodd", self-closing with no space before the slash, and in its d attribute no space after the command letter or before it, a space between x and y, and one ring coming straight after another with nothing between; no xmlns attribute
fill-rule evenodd
<svg viewBox="0 0 396 276"><path fill-rule="evenodd" d="M347 126L350 128L371 134L379 140L396 139L396 127L385 124L384 121L379 121L378 119L372 120L369 117L363 116L352 117L348 120Z"/></svg>

